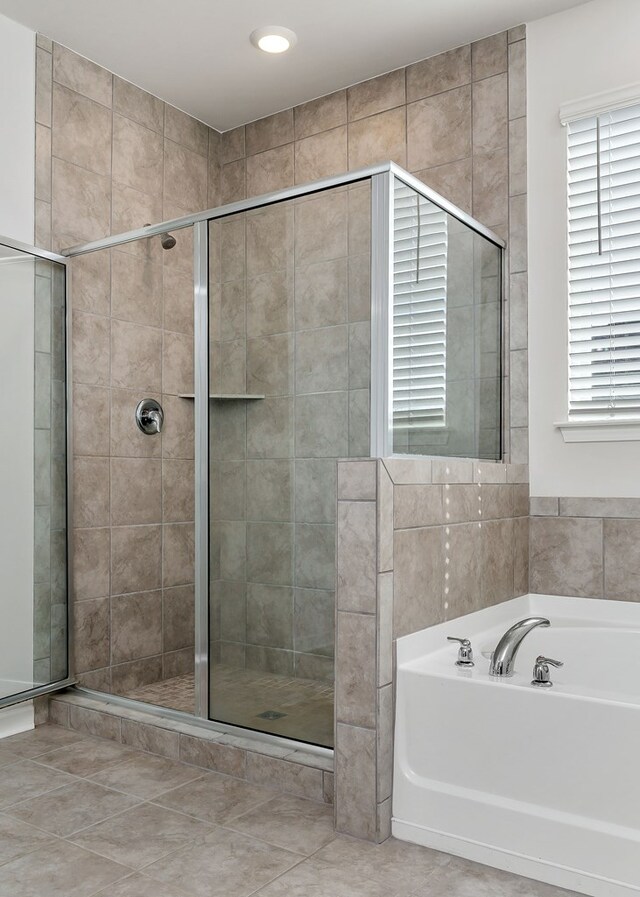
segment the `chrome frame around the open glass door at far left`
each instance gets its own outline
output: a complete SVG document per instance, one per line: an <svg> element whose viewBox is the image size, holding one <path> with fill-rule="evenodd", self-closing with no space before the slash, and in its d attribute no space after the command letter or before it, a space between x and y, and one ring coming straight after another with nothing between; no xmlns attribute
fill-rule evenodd
<svg viewBox="0 0 640 897"><path fill-rule="evenodd" d="M65 390L66 390L66 524L67 524L67 677L57 682L50 682L47 685L39 685L25 691L17 692L15 695L7 695L0 698L0 708L10 707L13 704L20 704L24 701L30 701L41 695L51 694L55 691L61 691L74 685L76 682L74 671L74 633L73 633L73 414L72 414L72 372L71 372L71 302L69 301L71 289L71 272L69 270L69 259L57 252L50 252L48 249L39 249L37 246L31 246L29 243L23 243L21 240L14 240L11 237L0 236L0 245L6 246L8 249L15 249L18 252L24 252L26 255L33 256L36 260L43 259L47 262L57 262L63 266L65 276Z"/></svg>

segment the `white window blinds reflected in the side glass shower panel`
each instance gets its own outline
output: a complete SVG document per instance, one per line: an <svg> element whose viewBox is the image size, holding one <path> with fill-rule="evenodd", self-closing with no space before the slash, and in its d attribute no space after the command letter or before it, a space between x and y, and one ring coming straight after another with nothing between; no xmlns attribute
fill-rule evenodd
<svg viewBox="0 0 640 897"><path fill-rule="evenodd" d="M394 426L443 427L447 215L398 181L394 193Z"/></svg>

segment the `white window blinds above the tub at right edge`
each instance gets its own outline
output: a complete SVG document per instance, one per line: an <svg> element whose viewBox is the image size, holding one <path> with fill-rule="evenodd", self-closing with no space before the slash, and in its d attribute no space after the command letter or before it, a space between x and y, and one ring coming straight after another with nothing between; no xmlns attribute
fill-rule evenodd
<svg viewBox="0 0 640 897"><path fill-rule="evenodd" d="M568 125L569 417L640 416L640 104Z"/></svg>

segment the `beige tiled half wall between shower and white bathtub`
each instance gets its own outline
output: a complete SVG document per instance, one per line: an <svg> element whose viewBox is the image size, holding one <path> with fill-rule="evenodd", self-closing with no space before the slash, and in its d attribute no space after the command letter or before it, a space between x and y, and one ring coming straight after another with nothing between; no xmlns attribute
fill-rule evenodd
<svg viewBox="0 0 640 897"><path fill-rule="evenodd" d="M394 641L526 594L525 465L338 464L336 827L391 826Z"/></svg>

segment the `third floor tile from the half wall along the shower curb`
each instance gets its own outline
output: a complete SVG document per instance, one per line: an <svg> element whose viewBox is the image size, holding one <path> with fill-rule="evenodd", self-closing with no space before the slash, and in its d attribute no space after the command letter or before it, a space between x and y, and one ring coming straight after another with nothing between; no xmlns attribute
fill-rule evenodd
<svg viewBox="0 0 640 897"><path fill-rule="evenodd" d="M154 754L136 753L119 766L91 777L92 782L151 800L202 775L202 770Z"/></svg>

